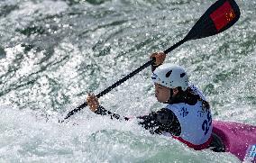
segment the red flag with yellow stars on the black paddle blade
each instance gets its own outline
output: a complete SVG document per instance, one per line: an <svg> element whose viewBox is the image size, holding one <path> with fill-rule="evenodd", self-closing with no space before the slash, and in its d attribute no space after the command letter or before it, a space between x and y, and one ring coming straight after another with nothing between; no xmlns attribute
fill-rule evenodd
<svg viewBox="0 0 256 163"><path fill-rule="evenodd" d="M215 12L210 14L210 17L215 23L217 31L220 31L226 24L230 23L235 18L235 14L232 6L226 1L224 5L220 6Z"/></svg>

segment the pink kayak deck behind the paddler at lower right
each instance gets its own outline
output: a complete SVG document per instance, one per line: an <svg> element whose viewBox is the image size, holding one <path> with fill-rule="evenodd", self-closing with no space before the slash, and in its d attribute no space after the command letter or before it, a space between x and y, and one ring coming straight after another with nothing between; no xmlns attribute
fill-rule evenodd
<svg viewBox="0 0 256 163"><path fill-rule="evenodd" d="M221 121L213 121L213 125L213 133L224 143L224 151L242 161L256 163L256 126Z"/></svg>

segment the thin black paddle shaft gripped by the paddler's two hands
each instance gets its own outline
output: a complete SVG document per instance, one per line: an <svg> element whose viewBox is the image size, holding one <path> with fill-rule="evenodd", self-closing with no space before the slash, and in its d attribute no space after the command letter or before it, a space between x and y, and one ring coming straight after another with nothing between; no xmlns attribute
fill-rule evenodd
<svg viewBox="0 0 256 163"><path fill-rule="evenodd" d="M181 41L178 41L176 44L174 44L173 46L169 47L169 49L164 50L163 52L165 54L168 54L170 51L175 50L176 48L178 48L178 46L182 45L184 42L186 42L187 40L183 39ZM139 72L141 72L144 68L149 67L152 63L154 62L154 59L150 59L148 62L144 63L140 68L137 68L135 70L133 70L133 72L131 72L130 74L128 74L127 76L121 78L120 80L116 81L113 85L108 86L107 88L105 88L105 90L103 90L101 93L97 94L96 97L99 98L107 93L109 93L112 89L114 89L116 86L121 85L123 82L125 82L126 80L128 80L129 78L135 76L136 74L138 74ZM87 107L87 102L84 104L80 104L76 109L70 111L68 113L68 115L64 118L64 120L68 119L70 116L72 116L75 113L78 113L80 110L82 110L84 107Z"/></svg>

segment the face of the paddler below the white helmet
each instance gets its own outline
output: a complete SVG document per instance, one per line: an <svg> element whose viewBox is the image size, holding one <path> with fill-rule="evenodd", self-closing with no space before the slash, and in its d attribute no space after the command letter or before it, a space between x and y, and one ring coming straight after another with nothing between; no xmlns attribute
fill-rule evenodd
<svg viewBox="0 0 256 163"><path fill-rule="evenodd" d="M155 96L160 103L167 102L170 97L169 87L160 86L160 84L155 83Z"/></svg>

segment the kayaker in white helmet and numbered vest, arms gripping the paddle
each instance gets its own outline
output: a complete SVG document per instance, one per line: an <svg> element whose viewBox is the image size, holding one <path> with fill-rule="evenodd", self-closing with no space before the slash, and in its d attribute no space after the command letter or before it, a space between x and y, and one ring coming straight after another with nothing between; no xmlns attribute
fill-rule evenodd
<svg viewBox="0 0 256 163"><path fill-rule="evenodd" d="M167 104L157 112L136 117L138 123L151 133L169 135L192 149L221 150L218 141L212 141L212 115L206 97L196 86L188 84L187 73L178 65L163 64L166 54L151 54L155 62L151 66L151 79L155 86L155 96L160 103ZM111 119L121 119L119 114L107 111L99 105L96 95L87 96L90 110L96 114L109 115ZM123 117L124 120L129 120Z"/></svg>

